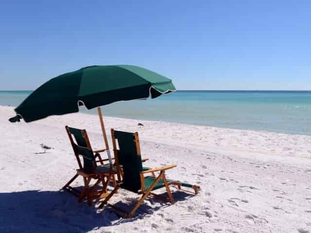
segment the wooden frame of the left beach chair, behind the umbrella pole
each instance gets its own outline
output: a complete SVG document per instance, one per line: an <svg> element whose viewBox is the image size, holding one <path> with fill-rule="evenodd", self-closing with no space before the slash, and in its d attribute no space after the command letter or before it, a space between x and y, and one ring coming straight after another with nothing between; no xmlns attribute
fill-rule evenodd
<svg viewBox="0 0 311 233"><path fill-rule="evenodd" d="M116 186L116 180L115 180L115 173L112 169L112 167L110 166L110 168L107 169L96 169L92 172L86 172L83 169L80 157L79 157L79 153L77 150L77 145L75 144L72 135L69 131L69 127L66 126L66 131L68 133L69 136L69 140L74 152L74 155L77 159L78 162L78 166L79 169L77 169L77 173L69 180L68 183L66 183L63 186L63 190L69 191L70 193L74 194L75 196L78 196L78 201L81 202L82 200L84 200L85 198L87 199L87 203L88 205L92 204L93 200L99 200L101 198L104 198L107 196L107 186L108 184L112 181L112 183L114 184L114 186ZM81 130L83 137L86 140L86 145L87 145L87 149L88 150L92 150L91 148L91 144L89 142L89 138L87 136L86 130ZM97 167L97 163L100 163L102 166L104 166L104 162L105 161L109 161L109 159L102 159L101 155L99 154L100 152L105 151L104 150L93 150L93 152L95 152L95 167ZM97 159L97 160L96 160ZM99 167L100 168L100 167ZM78 176L82 176L83 177L83 181L84 181L84 188L82 191L78 190L77 188L74 188L72 186L70 186L70 184L78 177ZM90 185L91 180L97 180L92 186ZM95 190L95 188L100 184L103 184L103 188L99 189L99 190Z"/></svg>

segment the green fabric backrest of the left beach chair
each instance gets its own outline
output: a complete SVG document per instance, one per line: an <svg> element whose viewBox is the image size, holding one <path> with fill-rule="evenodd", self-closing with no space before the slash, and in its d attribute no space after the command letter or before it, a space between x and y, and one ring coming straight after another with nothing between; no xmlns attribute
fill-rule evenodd
<svg viewBox="0 0 311 233"><path fill-rule="evenodd" d="M93 150L87 147L86 138L83 133L84 131L70 127L68 127L68 130L77 142L76 144L71 141L73 150L75 151L76 155L82 155L83 157L83 170L85 172L93 171L95 169L95 156Z"/></svg>

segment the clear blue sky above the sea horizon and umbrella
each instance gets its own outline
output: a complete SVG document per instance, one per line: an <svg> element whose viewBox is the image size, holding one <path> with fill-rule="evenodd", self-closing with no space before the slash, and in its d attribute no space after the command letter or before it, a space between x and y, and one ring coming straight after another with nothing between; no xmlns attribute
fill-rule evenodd
<svg viewBox="0 0 311 233"><path fill-rule="evenodd" d="M0 90L108 64L154 70L178 89L311 90L310 9L310 0L1 1Z"/></svg>

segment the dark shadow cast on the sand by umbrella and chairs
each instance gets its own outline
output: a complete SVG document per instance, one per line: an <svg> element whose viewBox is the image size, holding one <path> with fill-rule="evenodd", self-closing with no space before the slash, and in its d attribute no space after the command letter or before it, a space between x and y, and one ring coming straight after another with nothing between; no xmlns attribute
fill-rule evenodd
<svg viewBox="0 0 311 233"><path fill-rule="evenodd" d="M176 191L173 196L178 202L193 195ZM130 209L135 202L136 199L133 199L129 205L119 201L117 206ZM149 206L150 203L153 206ZM133 218L122 219L111 208L102 210L94 204L88 206L86 202L79 203L76 197L64 191L0 193L0 232L88 232L104 226L135 221L167 206L170 203L148 198Z"/></svg>

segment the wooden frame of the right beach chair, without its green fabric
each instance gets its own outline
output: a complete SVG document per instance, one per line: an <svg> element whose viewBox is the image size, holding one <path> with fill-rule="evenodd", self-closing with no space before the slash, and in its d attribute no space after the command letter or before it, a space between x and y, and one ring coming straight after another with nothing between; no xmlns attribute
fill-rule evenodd
<svg viewBox="0 0 311 233"><path fill-rule="evenodd" d="M168 166L158 167L158 168L154 168L154 169L149 169L146 171L141 171L140 172L141 190L139 190L137 192L137 194L142 194L142 197L140 198L140 200L138 200L137 204L133 207L133 209L130 212L124 211L115 205L111 205L111 204L107 203L108 200L118 191L118 189L121 187L121 184L122 184L122 181L121 181L122 171L121 171L121 166L119 164L119 156L118 156L118 150L117 150L117 145L116 145L116 138L115 138L115 133L114 133L113 129L111 129L111 137L112 137L113 151L114 151L114 155L115 155L115 162L116 162L116 166L117 166L118 183L117 183L117 186L114 188L114 190L105 198L105 200L100 204L99 207L103 208L104 205L107 204L108 206L110 206L110 207L120 211L121 213L125 214L125 216L121 216L121 217L129 218L129 217L133 216L133 214L137 211L137 209L141 205L141 203L150 195L154 196L155 198L161 199L161 200L170 201L173 204L174 199L173 199L173 195L172 195L172 192L170 190L169 185L170 184L176 184L176 183L167 181L167 179L165 177L165 171L168 169L171 169L177 165L168 165ZM134 141L136 144L137 155L141 155L140 146L139 146L139 138L138 138L137 132L134 133ZM152 185L148 189L146 189L145 183L144 183L144 175L148 174L148 173L155 174L155 172L160 172L160 174L158 176L156 176L155 181L152 183ZM153 190L153 188L155 187L155 185L160 181L160 179L162 179L163 183L165 184L166 191L167 191L167 194L169 196L168 198L162 197L160 195L157 195L157 194L151 192Z"/></svg>

